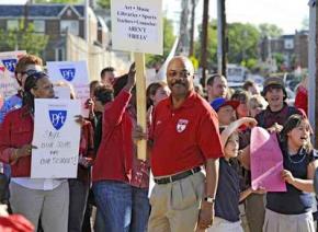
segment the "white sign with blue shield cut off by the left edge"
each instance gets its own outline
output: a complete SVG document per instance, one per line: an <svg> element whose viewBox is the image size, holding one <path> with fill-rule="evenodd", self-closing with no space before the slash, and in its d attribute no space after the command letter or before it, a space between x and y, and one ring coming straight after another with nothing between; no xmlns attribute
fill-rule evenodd
<svg viewBox="0 0 318 232"><path fill-rule="evenodd" d="M0 53L0 95L5 97L16 94L19 84L14 77L18 60L26 55L25 50Z"/></svg>

